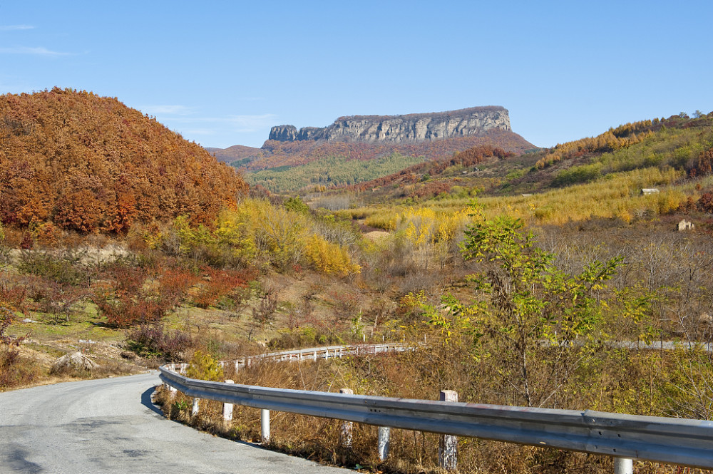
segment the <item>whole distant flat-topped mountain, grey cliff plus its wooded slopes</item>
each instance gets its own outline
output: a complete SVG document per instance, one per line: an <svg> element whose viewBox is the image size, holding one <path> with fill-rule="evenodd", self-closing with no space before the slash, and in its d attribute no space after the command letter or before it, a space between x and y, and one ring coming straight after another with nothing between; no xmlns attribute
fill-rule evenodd
<svg viewBox="0 0 713 474"><path fill-rule="evenodd" d="M352 115L324 128L297 130L293 125L278 125L260 149L235 145L207 150L219 160L244 168L250 185L291 192L312 185L354 185L424 160L451 158L475 146L516 154L538 149L513 133L508 110L491 106L409 115ZM361 163L350 163L355 160Z"/></svg>

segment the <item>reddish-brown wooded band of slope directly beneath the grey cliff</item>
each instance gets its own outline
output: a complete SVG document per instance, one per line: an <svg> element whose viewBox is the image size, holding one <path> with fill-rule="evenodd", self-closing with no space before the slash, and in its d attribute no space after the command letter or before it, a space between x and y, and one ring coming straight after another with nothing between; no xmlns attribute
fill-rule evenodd
<svg viewBox="0 0 713 474"><path fill-rule="evenodd" d="M421 143L347 143L328 140L279 142L267 140L262 145L262 155L252 158L250 163L245 164L245 168L257 171L280 166L299 166L333 156L343 156L348 160L374 160L374 158L391 153L425 156L431 160L438 160L451 158L453 152L478 145L503 148L517 154L537 148L517 133L495 129L488 130L482 135L444 138Z"/></svg>

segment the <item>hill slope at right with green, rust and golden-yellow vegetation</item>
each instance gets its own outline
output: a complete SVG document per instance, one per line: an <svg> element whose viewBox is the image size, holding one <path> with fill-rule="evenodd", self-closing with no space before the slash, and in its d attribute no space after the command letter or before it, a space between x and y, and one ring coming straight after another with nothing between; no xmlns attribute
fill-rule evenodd
<svg viewBox="0 0 713 474"><path fill-rule="evenodd" d="M530 225L661 216L671 229L689 214L697 216L697 229L710 232L713 225L713 113L626 123L519 156L476 151L318 197L334 201L340 192L356 192L363 207L340 215L386 230L411 207L458 212L476 195L486 215L507 214Z"/></svg>

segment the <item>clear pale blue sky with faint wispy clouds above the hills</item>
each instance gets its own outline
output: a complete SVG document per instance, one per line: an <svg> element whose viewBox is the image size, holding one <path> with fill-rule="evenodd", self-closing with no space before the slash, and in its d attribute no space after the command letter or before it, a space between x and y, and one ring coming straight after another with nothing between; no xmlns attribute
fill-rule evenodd
<svg viewBox="0 0 713 474"><path fill-rule="evenodd" d="M205 146L503 105L535 145L713 110L713 1L5 1L0 93L119 98Z"/></svg>

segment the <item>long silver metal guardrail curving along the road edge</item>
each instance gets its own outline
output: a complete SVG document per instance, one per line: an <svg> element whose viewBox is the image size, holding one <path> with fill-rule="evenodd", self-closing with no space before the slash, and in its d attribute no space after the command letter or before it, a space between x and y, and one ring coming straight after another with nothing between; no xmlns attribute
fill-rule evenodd
<svg viewBox="0 0 713 474"><path fill-rule="evenodd" d="M349 346L331 346L319 351L326 351L325 354L332 351L334 354L335 349L340 347L343 354L358 351ZM400 350L406 350L406 346L400 346ZM302 357L316 354L315 349L304 349L265 354L259 358L287 360L287 357L292 359L296 352ZM245 360L245 364L249 364L248 361L255 359ZM195 380L180 375L174 369L173 366L162 366L161 380L188 396L264 411L285 411L381 427L547 446L625 460L713 468L713 421L246 386ZM618 463L615 465L617 472L631 470L630 461L628 468L620 468Z"/></svg>

